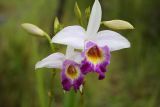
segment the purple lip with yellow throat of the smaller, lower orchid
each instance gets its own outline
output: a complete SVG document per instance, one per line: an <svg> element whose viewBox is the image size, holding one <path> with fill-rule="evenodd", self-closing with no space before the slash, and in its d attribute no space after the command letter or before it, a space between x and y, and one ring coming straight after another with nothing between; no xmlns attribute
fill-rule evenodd
<svg viewBox="0 0 160 107"><path fill-rule="evenodd" d="M63 89L69 91L73 86L74 90L79 90L84 83L84 75L80 70L80 65L71 60L63 62L61 81Z"/></svg>

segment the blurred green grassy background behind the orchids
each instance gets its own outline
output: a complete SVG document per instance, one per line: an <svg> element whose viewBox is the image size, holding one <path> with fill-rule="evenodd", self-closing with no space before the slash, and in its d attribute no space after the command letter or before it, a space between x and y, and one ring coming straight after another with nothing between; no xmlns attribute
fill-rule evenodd
<svg viewBox="0 0 160 107"><path fill-rule="evenodd" d="M84 12L94 0L77 0ZM100 0L103 20L131 22L121 31L132 47L112 52L102 81L87 76L84 107L160 107L160 1ZM44 38L27 34L21 23L33 23L53 34L58 16L65 25L77 24L75 0L0 0L0 107L48 107L51 69L35 72L37 61L51 51ZM104 28L102 28L104 29ZM65 48L57 46L57 51ZM54 82L54 107L82 107L80 94L63 93L59 73Z"/></svg>

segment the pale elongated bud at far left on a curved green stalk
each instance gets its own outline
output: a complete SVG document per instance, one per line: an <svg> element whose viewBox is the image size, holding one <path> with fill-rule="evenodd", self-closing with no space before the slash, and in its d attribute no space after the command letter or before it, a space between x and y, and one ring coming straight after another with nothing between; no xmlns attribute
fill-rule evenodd
<svg viewBox="0 0 160 107"><path fill-rule="evenodd" d="M23 23L23 24L21 24L21 26L30 34L33 34L36 36L44 36L45 35L45 32L36 25L30 24L30 23Z"/></svg>

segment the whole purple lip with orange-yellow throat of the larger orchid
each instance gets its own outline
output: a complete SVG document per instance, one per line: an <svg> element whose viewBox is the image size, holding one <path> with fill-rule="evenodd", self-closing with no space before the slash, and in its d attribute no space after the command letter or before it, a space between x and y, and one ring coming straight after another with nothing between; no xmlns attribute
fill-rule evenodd
<svg viewBox="0 0 160 107"><path fill-rule="evenodd" d="M82 73L97 72L99 80L104 79L111 57L108 46L98 47L96 43L88 41L82 56L84 57L81 65Z"/></svg>

